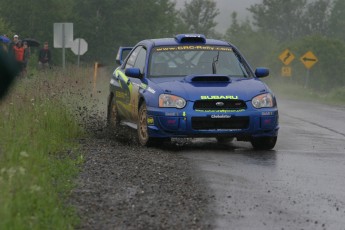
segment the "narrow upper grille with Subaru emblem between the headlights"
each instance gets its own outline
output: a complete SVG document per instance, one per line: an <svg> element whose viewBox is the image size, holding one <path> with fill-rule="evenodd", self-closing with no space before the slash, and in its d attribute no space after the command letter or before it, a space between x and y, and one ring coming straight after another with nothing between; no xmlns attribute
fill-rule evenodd
<svg viewBox="0 0 345 230"><path fill-rule="evenodd" d="M198 100L194 102L194 110L238 110L247 109L242 100Z"/></svg>

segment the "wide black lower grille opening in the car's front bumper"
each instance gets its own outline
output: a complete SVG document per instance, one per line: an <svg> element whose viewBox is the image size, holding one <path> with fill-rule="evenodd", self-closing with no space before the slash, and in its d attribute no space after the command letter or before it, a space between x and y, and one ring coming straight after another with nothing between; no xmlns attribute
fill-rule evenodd
<svg viewBox="0 0 345 230"><path fill-rule="evenodd" d="M249 117L192 117L192 128L195 130L247 129L248 126Z"/></svg>

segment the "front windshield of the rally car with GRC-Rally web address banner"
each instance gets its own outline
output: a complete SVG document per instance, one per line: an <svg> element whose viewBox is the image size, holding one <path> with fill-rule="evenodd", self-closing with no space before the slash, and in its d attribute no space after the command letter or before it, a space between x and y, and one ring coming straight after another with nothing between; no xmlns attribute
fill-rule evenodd
<svg viewBox="0 0 345 230"><path fill-rule="evenodd" d="M150 57L149 77L219 74L248 77L250 73L231 47L155 47Z"/></svg>

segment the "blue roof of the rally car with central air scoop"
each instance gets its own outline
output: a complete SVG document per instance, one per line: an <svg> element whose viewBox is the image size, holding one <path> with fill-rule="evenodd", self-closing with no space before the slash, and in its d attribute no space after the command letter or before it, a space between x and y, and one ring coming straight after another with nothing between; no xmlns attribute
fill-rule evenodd
<svg viewBox="0 0 345 230"><path fill-rule="evenodd" d="M187 40L183 40L187 38ZM193 38L197 38L194 39ZM190 40L188 40L190 39ZM218 46L229 46L230 44L226 41L208 39L202 34L180 34L174 38L159 38L159 39L147 39L139 42L147 47L155 46L174 46L174 45L218 45Z"/></svg>

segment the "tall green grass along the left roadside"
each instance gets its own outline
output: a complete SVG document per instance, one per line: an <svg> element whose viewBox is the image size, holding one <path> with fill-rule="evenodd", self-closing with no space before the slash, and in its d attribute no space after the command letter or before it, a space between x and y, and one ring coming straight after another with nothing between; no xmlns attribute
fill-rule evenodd
<svg viewBox="0 0 345 230"><path fill-rule="evenodd" d="M66 199L83 159L77 138L84 131L62 103L76 78L38 73L18 80L0 102L0 229L78 223Z"/></svg>

